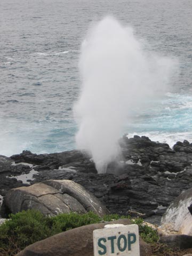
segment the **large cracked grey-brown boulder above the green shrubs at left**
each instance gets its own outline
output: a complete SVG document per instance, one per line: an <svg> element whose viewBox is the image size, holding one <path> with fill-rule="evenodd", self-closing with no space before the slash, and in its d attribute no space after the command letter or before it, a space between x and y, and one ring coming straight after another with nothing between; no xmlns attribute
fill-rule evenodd
<svg viewBox="0 0 192 256"><path fill-rule="evenodd" d="M57 215L71 211L77 213L93 211L100 216L108 213L106 207L97 198L74 181L51 180L46 183L47 185L45 183L36 183L29 187L9 190L4 197L3 205L11 213L28 209L41 211L45 215ZM59 184L62 188L59 187ZM53 185L55 185L55 188ZM73 193L70 193L70 191L73 191ZM84 200L83 195L85 195Z"/></svg>

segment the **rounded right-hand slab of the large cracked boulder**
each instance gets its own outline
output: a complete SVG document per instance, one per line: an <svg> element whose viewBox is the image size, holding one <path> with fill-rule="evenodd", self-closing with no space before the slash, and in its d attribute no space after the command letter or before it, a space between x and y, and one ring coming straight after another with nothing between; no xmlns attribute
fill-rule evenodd
<svg viewBox="0 0 192 256"><path fill-rule="evenodd" d="M86 211L93 211L99 216L108 214L108 210L101 202L90 192L88 192L83 186L75 183L71 180L46 180L46 185L49 185L61 193L66 193L73 198L76 198L81 203Z"/></svg>

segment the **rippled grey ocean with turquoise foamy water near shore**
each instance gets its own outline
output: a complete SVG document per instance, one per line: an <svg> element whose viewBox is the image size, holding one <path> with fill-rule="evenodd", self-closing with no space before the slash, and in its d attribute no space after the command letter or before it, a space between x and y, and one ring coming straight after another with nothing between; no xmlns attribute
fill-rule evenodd
<svg viewBox="0 0 192 256"><path fill-rule="evenodd" d="M135 109L122 135L147 135L170 146L192 142L190 0L1 0L0 10L1 155L76 148L81 44L106 15L131 26L146 51L179 63L171 89L149 108Z"/></svg>

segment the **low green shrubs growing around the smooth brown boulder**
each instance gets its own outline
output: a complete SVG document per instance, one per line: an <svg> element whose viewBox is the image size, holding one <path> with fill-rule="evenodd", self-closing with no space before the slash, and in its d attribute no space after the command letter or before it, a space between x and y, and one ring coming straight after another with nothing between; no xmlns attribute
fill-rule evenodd
<svg viewBox="0 0 192 256"><path fill-rule="evenodd" d="M10 220L0 226L0 256L15 255L30 244L72 228L120 218L130 219L129 216L119 216L118 214L110 214L100 218L93 212L60 214L55 217L44 216L35 210L10 214ZM146 225L142 225L142 222L142 219L133 220L133 223L139 225L143 240L147 243L156 243L157 232Z"/></svg>

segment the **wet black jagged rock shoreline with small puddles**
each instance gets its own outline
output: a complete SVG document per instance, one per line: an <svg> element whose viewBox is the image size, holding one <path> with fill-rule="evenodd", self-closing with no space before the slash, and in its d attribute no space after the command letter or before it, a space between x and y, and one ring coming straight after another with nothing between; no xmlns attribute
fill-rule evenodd
<svg viewBox="0 0 192 256"><path fill-rule="evenodd" d="M192 143L177 142L171 149L166 143L134 136L123 137L119 144L122 155L108 165L105 174L97 174L90 157L77 150L0 156L0 195L49 179L68 179L84 186L111 213L139 212L150 222L159 223L174 198L191 188ZM22 181L23 177L28 178ZM7 213L2 207L2 217Z"/></svg>

